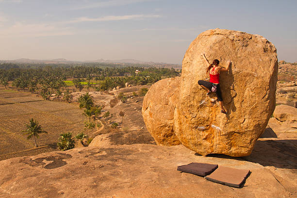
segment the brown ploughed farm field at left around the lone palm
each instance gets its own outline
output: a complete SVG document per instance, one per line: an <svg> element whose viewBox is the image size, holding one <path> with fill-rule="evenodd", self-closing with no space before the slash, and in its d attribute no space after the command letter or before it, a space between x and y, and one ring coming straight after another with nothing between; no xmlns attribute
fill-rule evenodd
<svg viewBox="0 0 297 198"><path fill-rule="evenodd" d="M36 119L42 129L48 132L42 133L37 139L40 147L54 145L62 132L72 132L75 136L83 130L85 120L83 111L77 105L47 101L28 92L14 90L0 89L0 110L0 160L57 150L52 146L5 155L35 148L33 139L27 140L21 132L26 129L25 123L29 123L31 118Z"/></svg>

